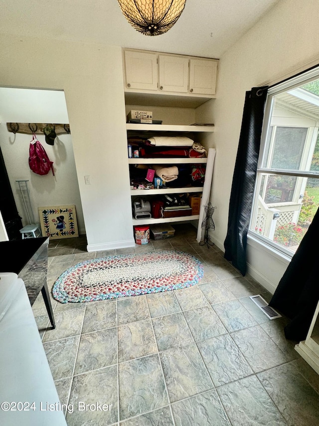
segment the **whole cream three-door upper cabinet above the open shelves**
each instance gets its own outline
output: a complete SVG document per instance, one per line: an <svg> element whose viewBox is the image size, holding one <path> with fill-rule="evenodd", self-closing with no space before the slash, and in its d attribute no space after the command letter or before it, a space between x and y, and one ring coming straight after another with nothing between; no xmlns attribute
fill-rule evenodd
<svg viewBox="0 0 319 426"><path fill-rule="evenodd" d="M133 49L123 52L127 94L157 93L170 99L197 97L198 101L201 97L202 103L215 97L218 59Z"/></svg>

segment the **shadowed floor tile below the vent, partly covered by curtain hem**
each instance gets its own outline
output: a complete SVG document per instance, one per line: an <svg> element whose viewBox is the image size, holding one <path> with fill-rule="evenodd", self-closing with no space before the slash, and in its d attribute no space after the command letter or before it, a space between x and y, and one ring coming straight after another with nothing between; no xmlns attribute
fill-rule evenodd
<svg viewBox="0 0 319 426"><path fill-rule="evenodd" d="M277 346L284 352L289 361L300 358L300 355L295 350L296 342L287 340L284 333L284 327L289 320L286 318L277 318L270 320L267 323L261 324L261 328L266 331L269 337L276 343Z"/></svg>

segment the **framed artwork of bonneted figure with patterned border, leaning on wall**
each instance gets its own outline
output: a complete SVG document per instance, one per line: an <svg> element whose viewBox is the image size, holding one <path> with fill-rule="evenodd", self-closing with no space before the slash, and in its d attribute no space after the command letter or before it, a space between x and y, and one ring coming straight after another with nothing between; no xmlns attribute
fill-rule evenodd
<svg viewBox="0 0 319 426"><path fill-rule="evenodd" d="M79 236L75 206L39 207L42 236L72 238Z"/></svg>

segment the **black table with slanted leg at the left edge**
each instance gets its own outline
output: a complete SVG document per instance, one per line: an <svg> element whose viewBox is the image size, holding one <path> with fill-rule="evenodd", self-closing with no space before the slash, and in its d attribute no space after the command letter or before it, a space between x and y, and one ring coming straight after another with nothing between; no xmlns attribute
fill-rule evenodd
<svg viewBox="0 0 319 426"><path fill-rule="evenodd" d="M46 281L48 246L48 237L1 241L0 272L15 272L23 280L31 306L41 291L52 328L55 328Z"/></svg>

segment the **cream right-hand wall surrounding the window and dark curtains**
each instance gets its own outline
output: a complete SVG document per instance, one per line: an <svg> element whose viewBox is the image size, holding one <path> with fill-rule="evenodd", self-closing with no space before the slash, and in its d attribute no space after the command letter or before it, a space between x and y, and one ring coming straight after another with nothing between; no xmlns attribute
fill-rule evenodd
<svg viewBox="0 0 319 426"><path fill-rule="evenodd" d="M217 150L211 201L216 230L211 233L223 248L229 197L237 154L246 90L276 83L319 62L319 8L316 0L280 1L220 58L217 99L213 117ZM206 104L205 104L206 105ZM277 262L264 250L248 244L249 272L274 291L287 261Z"/></svg>

